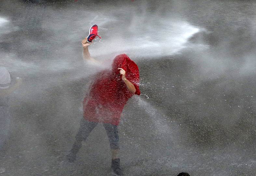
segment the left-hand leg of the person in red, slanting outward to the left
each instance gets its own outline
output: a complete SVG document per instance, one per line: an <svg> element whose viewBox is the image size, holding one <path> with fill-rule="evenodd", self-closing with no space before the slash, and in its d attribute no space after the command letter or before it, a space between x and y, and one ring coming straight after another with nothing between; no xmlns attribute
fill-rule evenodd
<svg viewBox="0 0 256 176"><path fill-rule="evenodd" d="M75 136L73 147L67 155L69 161L72 162L75 160L77 152L82 147L82 141L86 140L86 138L89 136L93 128L96 127L96 125L96 122L89 122L84 118L81 119L80 128Z"/></svg>

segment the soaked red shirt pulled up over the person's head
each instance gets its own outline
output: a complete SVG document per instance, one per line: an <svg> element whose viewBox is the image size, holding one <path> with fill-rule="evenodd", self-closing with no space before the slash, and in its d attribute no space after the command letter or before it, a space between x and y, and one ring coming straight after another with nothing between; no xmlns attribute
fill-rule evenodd
<svg viewBox="0 0 256 176"><path fill-rule="evenodd" d="M90 87L83 102L84 118L90 122L119 125L122 110L133 95L122 81L118 68L126 71L126 78L135 86L135 94L140 95L140 75L136 63L126 55L117 55L112 70L101 71Z"/></svg>

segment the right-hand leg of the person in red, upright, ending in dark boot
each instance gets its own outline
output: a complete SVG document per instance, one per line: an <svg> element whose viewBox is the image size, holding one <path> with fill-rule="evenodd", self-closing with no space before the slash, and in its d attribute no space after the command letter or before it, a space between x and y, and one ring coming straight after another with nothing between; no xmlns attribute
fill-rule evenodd
<svg viewBox="0 0 256 176"><path fill-rule="evenodd" d="M110 149L112 152L111 168L117 175L122 175L122 170L120 168L120 159L117 157L119 153L119 136L117 126L105 123L103 123L103 126L106 129L110 142Z"/></svg>

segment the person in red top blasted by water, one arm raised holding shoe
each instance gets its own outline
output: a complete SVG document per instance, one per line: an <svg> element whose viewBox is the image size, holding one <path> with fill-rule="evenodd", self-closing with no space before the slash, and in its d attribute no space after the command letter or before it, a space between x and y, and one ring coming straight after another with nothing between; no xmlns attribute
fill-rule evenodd
<svg viewBox="0 0 256 176"><path fill-rule="evenodd" d="M97 62L89 54L88 46L90 44L86 39L82 41L84 59ZM120 159L117 157L119 152L117 126L128 99L134 94L141 94L139 82L138 66L126 54L115 57L111 70L103 70L96 75L90 86L89 94L83 101L84 118L80 122L73 147L67 155L70 162L75 160L76 154L82 146L82 141L86 140L98 123L102 123L110 141L111 167L117 175L122 174Z"/></svg>

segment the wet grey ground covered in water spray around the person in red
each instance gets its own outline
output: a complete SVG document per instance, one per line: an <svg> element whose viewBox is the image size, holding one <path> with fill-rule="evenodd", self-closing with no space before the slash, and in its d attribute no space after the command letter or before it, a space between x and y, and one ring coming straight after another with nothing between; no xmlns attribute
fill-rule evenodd
<svg viewBox="0 0 256 176"><path fill-rule="evenodd" d="M125 175L256 175L256 3L253 1L4 1L0 61L23 79L9 98L0 175L111 175L102 125L70 164L88 82L81 39L102 60L127 53L141 96L119 126Z"/></svg>

